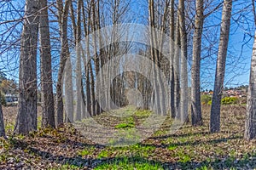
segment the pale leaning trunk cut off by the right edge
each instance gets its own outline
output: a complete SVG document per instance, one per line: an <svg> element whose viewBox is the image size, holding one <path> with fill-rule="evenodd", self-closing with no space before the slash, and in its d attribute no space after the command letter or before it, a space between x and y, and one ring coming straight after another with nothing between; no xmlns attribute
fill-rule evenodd
<svg viewBox="0 0 256 170"><path fill-rule="evenodd" d="M255 3L253 0L254 26L256 26ZM253 54L251 61L250 82L247 95L247 117L244 138L247 140L256 138L256 31L254 33Z"/></svg>

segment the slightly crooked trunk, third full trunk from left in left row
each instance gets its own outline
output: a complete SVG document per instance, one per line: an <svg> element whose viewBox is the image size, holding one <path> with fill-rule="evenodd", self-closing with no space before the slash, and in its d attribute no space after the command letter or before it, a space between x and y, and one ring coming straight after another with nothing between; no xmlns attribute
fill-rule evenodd
<svg viewBox="0 0 256 170"><path fill-rule="evenodd" d="M69 48L67 41L67 14L71 0L66 0L63 8L62 0L57 0L57 8L59 14L59 26L61 31L61 59L60 69L58 72L58 82L56 88L57 94L57 126L63 124L63 98L62 98L62 85L63 85L63 74L66 65L67 58L69 57Z"/></svg>

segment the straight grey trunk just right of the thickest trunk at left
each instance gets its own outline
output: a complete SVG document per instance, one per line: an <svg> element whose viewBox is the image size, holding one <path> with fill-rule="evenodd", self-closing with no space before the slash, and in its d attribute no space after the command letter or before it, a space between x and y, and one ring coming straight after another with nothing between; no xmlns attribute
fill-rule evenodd
<svg viewBox="0 0 256 170"><path fill-rule="evenodd" d="M51 54L49 41L49 19L47 0L40 1L40 59L42 90L42 127L55 127L55 105L51 75Z"/></svg>

